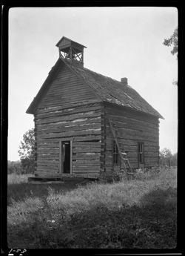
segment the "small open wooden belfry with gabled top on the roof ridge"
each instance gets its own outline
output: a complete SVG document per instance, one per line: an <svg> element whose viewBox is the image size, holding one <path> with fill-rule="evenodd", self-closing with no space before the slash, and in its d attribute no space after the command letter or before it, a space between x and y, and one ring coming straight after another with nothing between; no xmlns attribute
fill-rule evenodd
<svg viewBox="0 0 185 256"><path fill-rule="evenodd" d="M63 36L56 44L59 50L59 57L67 59L70 63L80 64L84 66L84 45L80 45L71 39Z"/></svg>

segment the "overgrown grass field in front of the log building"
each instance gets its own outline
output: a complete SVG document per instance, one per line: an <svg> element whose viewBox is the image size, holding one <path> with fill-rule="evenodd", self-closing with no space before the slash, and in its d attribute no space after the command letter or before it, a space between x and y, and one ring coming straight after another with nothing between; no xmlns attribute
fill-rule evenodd
<svg viewBox="0 0 185 256"><path fill-rule="evenodd" d="M8 246L175 248L176 177L174 168L78 188L8 177Z"/></svg>

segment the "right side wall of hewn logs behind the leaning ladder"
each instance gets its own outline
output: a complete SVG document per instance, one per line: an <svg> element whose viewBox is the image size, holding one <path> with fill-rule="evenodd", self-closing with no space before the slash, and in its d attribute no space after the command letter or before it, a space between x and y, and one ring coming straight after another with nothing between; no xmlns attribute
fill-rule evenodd
<svg viewBox="0 0 185 256"><path fill-rule="evenodd" d="M159 121L155 116L138 111L104 105L104 171L113 170L111 119L117 127L117 137L121 150L127 151L132 168L138 168L138 142L144 142L144 166L158 165L159 160ZM102 157L103 158L103 157Z"/></svg>

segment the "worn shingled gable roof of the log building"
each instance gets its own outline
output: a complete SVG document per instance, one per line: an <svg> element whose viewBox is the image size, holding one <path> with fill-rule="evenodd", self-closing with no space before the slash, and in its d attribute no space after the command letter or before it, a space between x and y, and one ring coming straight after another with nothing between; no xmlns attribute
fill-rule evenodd
<svg viewBox="0 0 185 256"><path fill-rule="evenodd" d="M164 119L164 117L152 108L152 106L131 86L124 85L122 82L108 76L103 76L100 73L95 73L92 70L84 68L82 65L70 64L70 62L64 59L58 59L55 63L55 66L50 71L40 91L38 91L38 94L27 109L27 113L33 114L33 108L36 108L37 102L41 99L41 95L48 87L48 82L52 79L51 76L54 75L55 70L58 69L58 65L61 65L61 62L67 65L84 84L89 85L102 102L110 102L115 105L132 108L135 111L144 112Z"/></svg>

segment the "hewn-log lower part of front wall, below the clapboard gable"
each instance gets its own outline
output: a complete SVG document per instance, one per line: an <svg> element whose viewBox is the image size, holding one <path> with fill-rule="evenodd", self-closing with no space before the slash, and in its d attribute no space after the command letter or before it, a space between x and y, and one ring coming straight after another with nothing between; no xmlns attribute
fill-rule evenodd
<svg viewBox="0 0 185 256"><path fill-rule="evenodd" d="M45 116L43 116L43 111ZM73 174L98 175L101 153L101 108L91 103L55 111L39 109L35 115L38 176L58 176L59 142L73 140ZM57 111L57 113L58 113ZM78 113L77 113L78 112Z"/></svg>

